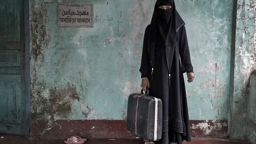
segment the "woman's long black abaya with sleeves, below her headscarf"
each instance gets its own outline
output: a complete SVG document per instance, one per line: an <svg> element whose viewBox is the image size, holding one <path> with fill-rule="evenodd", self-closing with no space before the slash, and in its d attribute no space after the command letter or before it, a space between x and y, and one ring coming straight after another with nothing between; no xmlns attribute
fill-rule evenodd
<svg viewBox="0 0 256 144"><path fill-rule="evenodd" d="M163 133L161 140L155 141L155 143L177 142L177 144L182 144L183 140L191 141L183 73L192 70L193 67L184 23L179 26L177 31L178 43L167 47L155 45L154 50L151 49L150 53L147 51L148 30L149 25L145 30L140 72L141 77L148 77L149 95L160 98L163 103ZM153 79L150 73L152 57L154 59ZM170 72L168 63L171 63ZM170 86L168 84L169 74Z"/></svg>

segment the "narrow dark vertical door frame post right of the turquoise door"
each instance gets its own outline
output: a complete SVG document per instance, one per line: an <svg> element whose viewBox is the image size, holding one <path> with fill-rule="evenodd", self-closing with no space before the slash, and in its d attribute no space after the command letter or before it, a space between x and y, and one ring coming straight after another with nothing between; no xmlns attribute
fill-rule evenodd
<svg viewBox="0 0 256 144"><path fill-rule="evenodd" d="M30 39L29 39L29 0L24 0L24 72L25 72L25 116L24 116L24 133L25 137L30 137L31 116L30 116Z"/></svg>

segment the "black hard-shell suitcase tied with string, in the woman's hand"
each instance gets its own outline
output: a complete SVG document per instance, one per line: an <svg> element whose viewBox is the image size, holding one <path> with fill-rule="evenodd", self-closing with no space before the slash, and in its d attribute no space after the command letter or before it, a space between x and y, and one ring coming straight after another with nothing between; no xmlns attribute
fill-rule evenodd
<svg viewBox="0 0 256 144"><path fill-rule="evenodd" d="M145 94L141 89L141 93L133 93L129 96L126 126L128 131L141 138L156 141L162 138L162 100L148 93L147 88Z"/></svg>

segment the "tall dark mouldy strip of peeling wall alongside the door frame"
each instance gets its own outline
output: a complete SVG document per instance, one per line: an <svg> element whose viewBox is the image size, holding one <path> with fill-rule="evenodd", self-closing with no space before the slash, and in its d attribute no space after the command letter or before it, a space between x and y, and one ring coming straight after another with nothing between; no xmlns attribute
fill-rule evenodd
<svg viewBox="0 0 256 144"><path fill-rule="evenodd" d="M44 80L37 82L39 67L42 66L46 47L50 43L49 31L46 28L47 8L42 3L36 5L34 1L30 1L30 83L31 83L31 119L40 119L45 113L50 114L49 100L42 95L42 89L45 85ZM42 114L42 115L41 115Z"/></svg>

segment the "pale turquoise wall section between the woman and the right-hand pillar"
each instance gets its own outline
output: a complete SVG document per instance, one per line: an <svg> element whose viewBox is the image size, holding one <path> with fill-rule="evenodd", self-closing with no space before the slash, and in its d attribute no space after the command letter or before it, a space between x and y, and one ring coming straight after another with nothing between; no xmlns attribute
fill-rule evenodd
<svg viewBox="0 0 256 144"><path fill-rule="evenodd" d="M190 119L227 119L233 2L176 3L188 29L195 69L194 82L186 84Z"/></svg>

